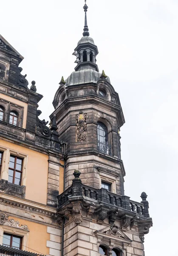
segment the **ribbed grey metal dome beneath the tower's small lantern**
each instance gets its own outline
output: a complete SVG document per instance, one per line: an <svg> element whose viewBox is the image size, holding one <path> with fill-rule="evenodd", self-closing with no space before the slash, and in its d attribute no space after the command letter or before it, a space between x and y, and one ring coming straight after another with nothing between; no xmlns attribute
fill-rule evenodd
<svg viewBox="0 0 178 256"><path fill-rule="evenodd" d="M96 83L100 79L101 75L101 73L93 69L74 71L73 73L71 73L68 79L65 80L65 86L74 84ZM109 77L107 77L106 80L110 83Z"/></svg>

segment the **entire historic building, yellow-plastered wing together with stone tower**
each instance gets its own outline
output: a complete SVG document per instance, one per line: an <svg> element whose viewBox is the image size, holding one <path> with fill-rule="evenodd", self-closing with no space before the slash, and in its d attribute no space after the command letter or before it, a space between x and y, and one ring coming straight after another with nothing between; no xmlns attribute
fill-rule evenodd
<svg viewBox="0 0 178 256"><path fill-rule="evenodd" d="M51 122L35 81L0 36L0 253L144 256L152 226L146 193L124 195L119 95L96 64L84 6L75 71L59 83Z"/></svg>

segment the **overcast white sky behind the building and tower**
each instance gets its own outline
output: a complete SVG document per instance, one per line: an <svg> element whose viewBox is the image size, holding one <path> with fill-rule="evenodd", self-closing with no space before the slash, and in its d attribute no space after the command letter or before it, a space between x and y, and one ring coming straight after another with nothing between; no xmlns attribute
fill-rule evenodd
<svg viewBox="0 0 178 256"><path fill-rule="evenodd" d="M61 76L73 72L73 49L82 37L83 0L1 0L0 34L25 57L29 86L44 95L42 119ZM153 227L146 256L178 256L178 1L88 0L97 64L119 93L126 123L121 152L125 194L145 191Z"/></svg>

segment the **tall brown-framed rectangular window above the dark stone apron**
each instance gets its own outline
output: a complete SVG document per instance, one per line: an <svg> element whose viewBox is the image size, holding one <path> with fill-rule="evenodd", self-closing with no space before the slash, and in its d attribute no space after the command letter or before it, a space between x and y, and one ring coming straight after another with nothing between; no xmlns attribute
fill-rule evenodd
<svg viewBox="0 0 178 256"><path fill-rule="evenodd" d="M23 158L10 155L8 167L8 182L21 185Z"/></svg>

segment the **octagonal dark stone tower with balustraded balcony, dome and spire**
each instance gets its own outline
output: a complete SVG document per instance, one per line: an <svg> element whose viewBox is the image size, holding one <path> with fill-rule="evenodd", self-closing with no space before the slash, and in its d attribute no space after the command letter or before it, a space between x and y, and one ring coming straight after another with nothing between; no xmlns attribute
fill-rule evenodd
<svg viewBox="0 0 178 256"><path fill-rule="evenodd" d="M124 124L119 95L96 64L84 6L77 66L63 77L54 97L59 140L66 143L64 192L58 196L62 256L144 256L144 234L152 219L145 192L141 203L124 195L125 170L119 131Z"/></svg>

